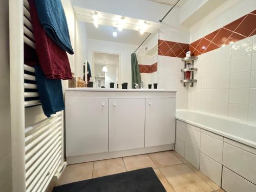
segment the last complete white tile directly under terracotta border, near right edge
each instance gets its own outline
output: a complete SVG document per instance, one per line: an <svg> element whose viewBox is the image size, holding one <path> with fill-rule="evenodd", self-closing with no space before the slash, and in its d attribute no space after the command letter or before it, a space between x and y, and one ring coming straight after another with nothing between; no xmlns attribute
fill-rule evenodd
<svg viewBox="0 0 256 192"><path fill-rule="evenodd" d="M242 39L232 45L231 57L239 57L251 53L252 37Z"/></svg>

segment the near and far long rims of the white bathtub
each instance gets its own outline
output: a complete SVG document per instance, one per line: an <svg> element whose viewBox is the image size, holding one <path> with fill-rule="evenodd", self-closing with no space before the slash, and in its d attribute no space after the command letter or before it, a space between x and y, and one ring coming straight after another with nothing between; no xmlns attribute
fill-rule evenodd
<svg viewBox="0 0 256 192"><path fill-rule="evenodd" d="M198 111L193 111L193 110L177 110L177 111L196 112L196 113L201 113L201 114L208 115L208 116L215 116L215 117L226 119L226 120L231 120L232 119L233 121L236 121L236 122L239 122L239 123L243 123L243 124L248 124L248 125L253 125L253 126L256 125L253 122L251 123L251 122L247 122L247 121L243 121L243 120L239 120L239 119L234 119L234 118L230 118L230 117L225 117L225 116L220 116L220 115L215 115L215 114L211 114L211 113L198 112ZM225 132L222 132L222 131L218 131L218 130L213 129L211 127L208 127L208 126L196 123L194 121L189 121L189 120L186 120L186 119L182 119L182 118L179 118L177 116L176 116L176 119L180 120L180 121L183 121L185 123L188 123L188 124L200 127L201 129L204 129L206 131L209 131L209 132L212 132L212 133L216 133L216 134L221 135L223 137L226 137L226 138L232 139L234 141L243 143L245 145L251 146L253 148L256 148L256 142L254 142L254 141L251 141L251 140L248 140L248 139L244 139L244 138L241 138L241 137L238 137L238 136L234 136L232 134L228 134L228 133L225 133Z"/></svg>

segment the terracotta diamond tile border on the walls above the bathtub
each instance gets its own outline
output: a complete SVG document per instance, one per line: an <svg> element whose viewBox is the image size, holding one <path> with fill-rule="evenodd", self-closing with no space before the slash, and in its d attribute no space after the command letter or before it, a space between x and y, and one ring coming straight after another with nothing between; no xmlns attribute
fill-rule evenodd
<svg viewBox="0 0 256 192"><path fill-rule="evenodd" d="M187 51L191 51L191 55L197 56L255 34L256 10L234 20L230 24L225 25L208 35L205 35L191 44L159 39L158 55L182 58L186 56Z"/></svg>

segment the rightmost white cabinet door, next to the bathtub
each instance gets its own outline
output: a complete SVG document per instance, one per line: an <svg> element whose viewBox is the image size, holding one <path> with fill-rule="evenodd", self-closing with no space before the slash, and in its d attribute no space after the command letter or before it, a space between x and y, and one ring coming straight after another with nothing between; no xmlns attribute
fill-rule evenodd
<svg viewBox="0 0 256 192"><path fill-rule="evenodd" d="M145 147L175 143L175 98L145 101Z"/></svg>

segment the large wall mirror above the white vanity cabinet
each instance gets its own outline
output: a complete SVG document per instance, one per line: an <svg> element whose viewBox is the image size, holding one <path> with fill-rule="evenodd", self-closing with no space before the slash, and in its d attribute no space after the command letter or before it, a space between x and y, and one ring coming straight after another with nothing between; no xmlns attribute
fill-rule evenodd
<svg viewBox="0 0 256 192"><path fill-rule="evenodd" d="M92 11L88 14L92 14ZM101 15L104 14L101 13ZM142 31L139 29L140 25L133 27L136 26L133 24L129 24L132 27L127 26L128 24L123 25L123 28L120 29L116 23L108 23L104 20L99 20L98 24L95 24L92 22L92 18L83 17L78 25L85 28L83 35L87 42L86 60L90 65L90 77L94 81L93 87L110 88L110 82L114 82L114 88L117 88L117 84L120 88L121 83L127 82L128 89L131 89L131 54L135 51L144 88L147 88L147 84L156 83L158 30L152 28ZM134 20L140 22L139 19ZM127 23L135 21L126 20ZM88 65L83 70L88 70L87 67Z"/></svg>

